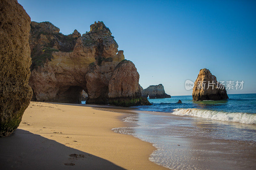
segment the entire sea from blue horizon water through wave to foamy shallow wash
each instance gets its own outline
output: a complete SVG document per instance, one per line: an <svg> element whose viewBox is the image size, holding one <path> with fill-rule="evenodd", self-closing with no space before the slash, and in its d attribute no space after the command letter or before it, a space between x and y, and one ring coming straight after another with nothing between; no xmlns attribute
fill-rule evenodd
<svg viewBox="0 0 256 170"><path fill-rule="evenodd" d="M153 105L123 119L136 127L113 130L152 143L149 160L170 169L256 169L256 94L228 97L148 99Z"/></svg>

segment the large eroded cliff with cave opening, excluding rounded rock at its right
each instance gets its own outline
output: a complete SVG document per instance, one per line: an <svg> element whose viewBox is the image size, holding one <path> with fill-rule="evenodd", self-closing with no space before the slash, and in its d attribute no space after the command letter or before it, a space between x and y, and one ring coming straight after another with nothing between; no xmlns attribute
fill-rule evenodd
<svg viewBox="0 0 256 170"><path fill-rule="evenodd" d="M81 103L84 90L86 103L108 103L109 80L124 54L103 22L90 28L63 35L50 22L31 23L33 100Z"/></svg>

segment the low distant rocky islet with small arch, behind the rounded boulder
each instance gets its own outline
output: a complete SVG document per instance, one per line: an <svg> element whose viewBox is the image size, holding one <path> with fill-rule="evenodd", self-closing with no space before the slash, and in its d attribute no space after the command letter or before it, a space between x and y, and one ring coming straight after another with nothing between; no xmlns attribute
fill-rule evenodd
<svg viewBox="0 0 256 170"><path fill-rule="evenodd" d="M141 96L144 98L154 99L154 98L171 98L169 94L166 94L164 91L164 86L159 85L150 85L148 88L141 91Z"/></svg>

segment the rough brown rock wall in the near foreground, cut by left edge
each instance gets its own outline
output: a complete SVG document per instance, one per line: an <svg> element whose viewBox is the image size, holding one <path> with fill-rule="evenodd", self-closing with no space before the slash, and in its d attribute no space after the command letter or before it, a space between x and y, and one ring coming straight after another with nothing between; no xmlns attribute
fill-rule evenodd
<svg viewBox="0 0 256 170"><path fill-rule="evenodd" d="M17 0L0 0L0 136L9 136L21 122L32 97L30 17Z"/></svg>

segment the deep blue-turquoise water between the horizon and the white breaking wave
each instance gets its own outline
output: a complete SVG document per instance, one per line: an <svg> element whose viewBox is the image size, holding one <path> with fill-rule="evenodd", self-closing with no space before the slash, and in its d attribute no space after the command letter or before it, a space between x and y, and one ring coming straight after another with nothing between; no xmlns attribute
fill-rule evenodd
<svg viewBox="0 0 256 170"><path fill-rule="evenodd" d="M176 108L198 108L224 112L256 113L256 94L229 94L227 100L193 102L192 96L172 96L164 99L148 99L152 106L140 106L140 110L171 112ZM178 100L182 104L178 104Z"/></svg>

